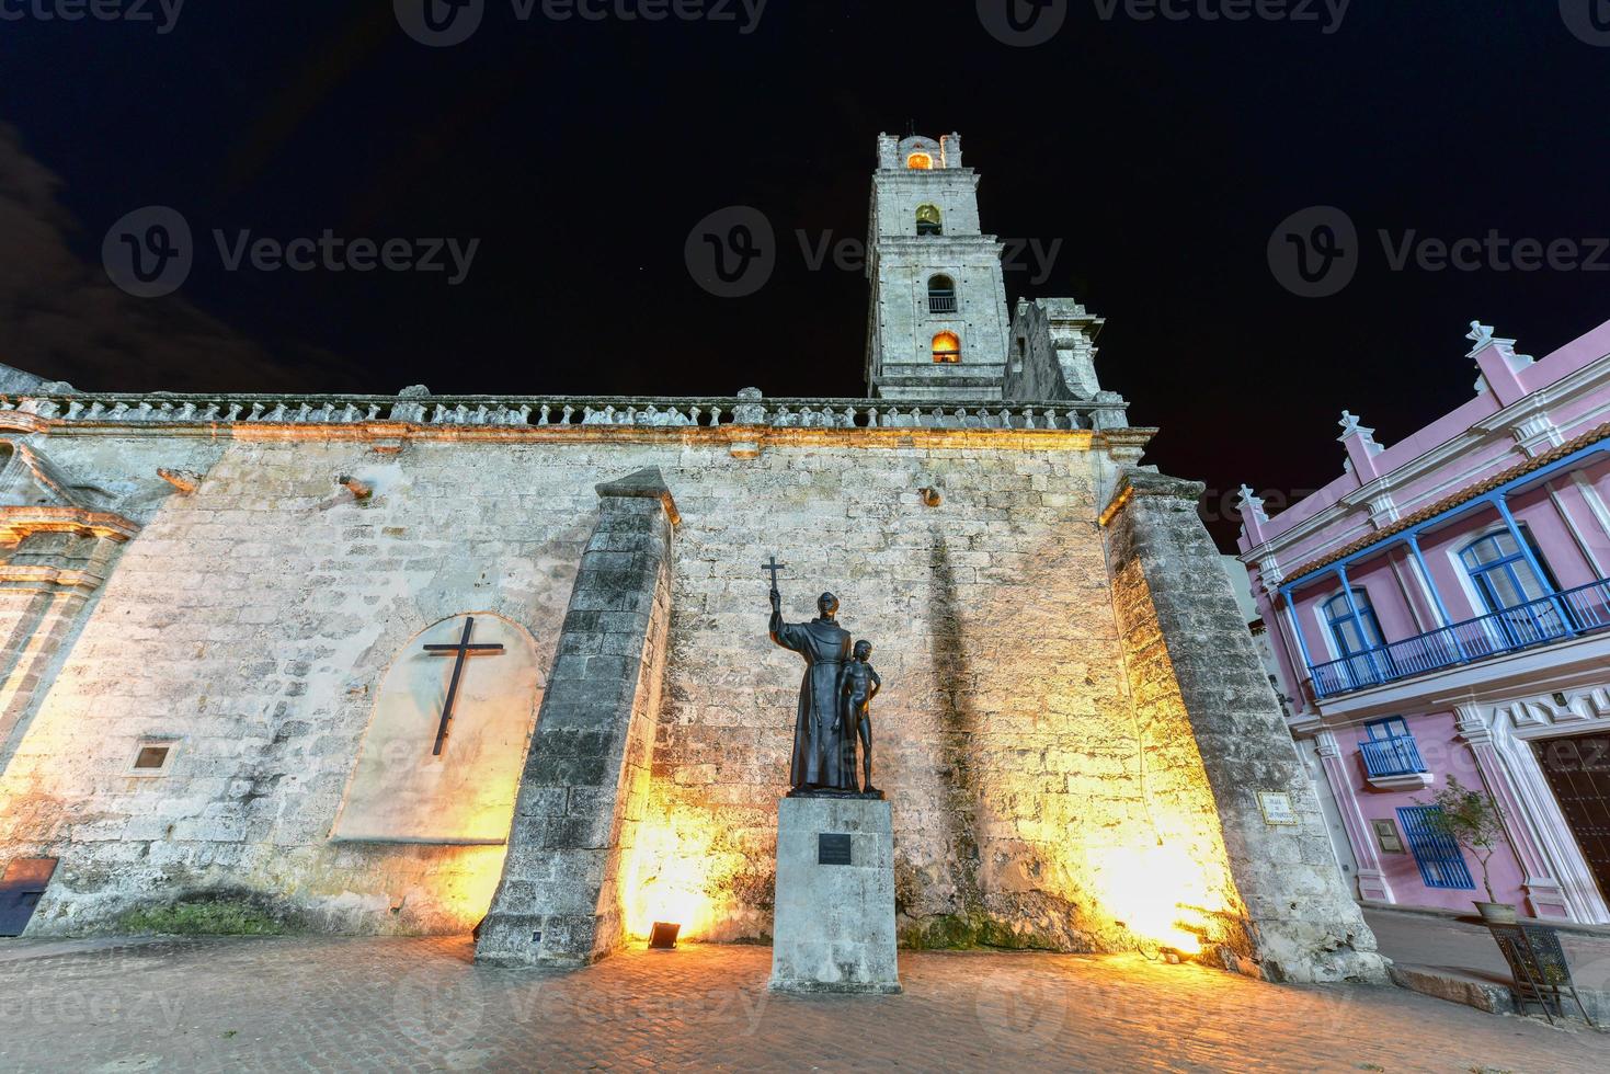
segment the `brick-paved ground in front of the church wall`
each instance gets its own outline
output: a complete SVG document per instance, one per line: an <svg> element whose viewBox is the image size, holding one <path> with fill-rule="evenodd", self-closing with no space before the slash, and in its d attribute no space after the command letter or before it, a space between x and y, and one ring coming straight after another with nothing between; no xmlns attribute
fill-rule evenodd
<svg viewBox="0 0 1610 1074"><path fill-rule="evenodd" d="M0 942L0 1069L1610 1069L1610 1035L1138 956L903 953L905 995L776 997L770 950L477 968L467 939Z"/></svg>

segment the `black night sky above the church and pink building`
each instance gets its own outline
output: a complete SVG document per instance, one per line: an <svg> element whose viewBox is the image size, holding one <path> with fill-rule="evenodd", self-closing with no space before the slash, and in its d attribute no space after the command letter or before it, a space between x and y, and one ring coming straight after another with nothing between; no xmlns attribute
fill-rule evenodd
<svg viewBox="0 0 1610 1074"><path fill-rule="evenodd" d="M1573 0L1354 0L1333 34L1319 2L1311 23L1172 23L1066 0L1029 48L968 2L771 0L745 34L737 3L555 23L486 0L449 48L388 0L192 0L166 34L155 0L156 24L31 13L55 2L0 3L29 11L0 21L0 361L82 390L858 396L866 282L811 271L795 232L863 238L874 138L908 122L961 132L985 230L1061 240L1008 298L1108 319L1103 383L1162 427L1150 462L1208 481L1227 547L1220 489L1277 509L1323 485L1343 407L1389 444L1470 398L1473 317L1538 356L1610 317L1610 253L1393 271L1377 235L1610 235L1610 34L1573 34ZM140 299L101 240L148 204L196 253ZM771 221L778 269L721 299L684 242L734 204ZM1267 246L1317 204L1357 225L1357 277L1299 298ZM214 229L480 248L457 287L229 272Z"/></svg>

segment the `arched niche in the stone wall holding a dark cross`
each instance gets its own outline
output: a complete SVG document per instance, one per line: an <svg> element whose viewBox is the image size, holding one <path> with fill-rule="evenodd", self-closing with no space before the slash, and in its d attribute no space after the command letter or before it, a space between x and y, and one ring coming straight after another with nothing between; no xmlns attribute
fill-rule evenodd
<svg viewBox="0 0 1610 1074"><path fill-rule="evenodd" d="M456 647L473 620L470 651ZM427 649L436 646L436 649ZM443 708L452 691L452 718ZM330 837L346 842L502 844L543 700L531 636L488 612L415 634L380 681Z"/></svg>

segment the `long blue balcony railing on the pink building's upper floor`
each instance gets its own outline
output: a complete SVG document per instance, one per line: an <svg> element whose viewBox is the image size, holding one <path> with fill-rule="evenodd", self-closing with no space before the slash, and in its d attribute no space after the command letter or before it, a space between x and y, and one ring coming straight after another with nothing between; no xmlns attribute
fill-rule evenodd
<svg viewBox="0 0 1610 1074"><path fill-rule="evenodd" d="M1563 638L1610 630L1610 580L1441 626L1309 668L1314 696L1335 697L1426 671L1501 657Z"/></svg>

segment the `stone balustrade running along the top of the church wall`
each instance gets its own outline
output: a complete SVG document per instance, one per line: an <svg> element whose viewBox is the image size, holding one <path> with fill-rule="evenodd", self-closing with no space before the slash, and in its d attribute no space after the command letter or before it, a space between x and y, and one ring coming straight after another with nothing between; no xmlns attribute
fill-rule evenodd
<svg viewBox="0 0 1610 1074"><path fill-rule="evenodd" d="M351 425L423 427L720 427L773 428L1125 428L1124 399L897 401L763 399L741 396L420 396L420 394L0 394L0 425L43 422L111 425ZM11 422L5 420L13 417Z"/></svg>

